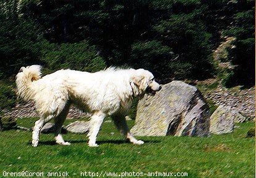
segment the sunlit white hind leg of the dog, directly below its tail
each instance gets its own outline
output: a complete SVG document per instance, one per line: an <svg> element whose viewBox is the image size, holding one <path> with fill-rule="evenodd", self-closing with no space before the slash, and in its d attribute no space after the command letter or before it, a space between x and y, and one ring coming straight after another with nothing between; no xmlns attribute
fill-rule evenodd
<svg viewBox="0 0 256 178"><path fill-rule="evenodd" d="M54 115L48 115L47 117L41 116L38 121L35 122L35 126L32 133L32 146L36 147L39 142L39 134L44 124L49 122L54 117Z"/></svg>

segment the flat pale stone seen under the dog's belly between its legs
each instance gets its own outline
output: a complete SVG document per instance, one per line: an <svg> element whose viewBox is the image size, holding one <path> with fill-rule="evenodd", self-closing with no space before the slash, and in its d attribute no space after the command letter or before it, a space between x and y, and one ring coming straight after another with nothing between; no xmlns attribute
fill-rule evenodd
<svg viewBox="0 0 256 178"><path fill-rule="evenodd" d="M88 133L89 122L86 121L75 121L65 126L67 131L71 133Z"/></svg>

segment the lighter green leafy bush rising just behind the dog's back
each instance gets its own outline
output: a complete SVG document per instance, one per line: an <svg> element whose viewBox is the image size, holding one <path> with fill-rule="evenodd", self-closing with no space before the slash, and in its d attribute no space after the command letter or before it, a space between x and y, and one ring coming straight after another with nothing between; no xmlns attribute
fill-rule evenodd
<svg viewBox="0 0 256 178"><path fill-rule="evenodd" d="M89 45L87 41L61 45L46 42L41 53L42 61L52 70L75 69L96 72L106 67L105 61L97 56L95 47Z"/></svg>

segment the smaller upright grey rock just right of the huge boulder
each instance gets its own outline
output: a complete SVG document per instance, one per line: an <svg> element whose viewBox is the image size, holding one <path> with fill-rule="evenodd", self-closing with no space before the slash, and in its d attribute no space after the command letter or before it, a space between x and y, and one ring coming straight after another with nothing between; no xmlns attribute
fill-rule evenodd
<svg viewBox="0 0 256 178"><path fill-rule="evenodd" d="M210 117L210 133L224 134L234 130L234 112L230 106L220 105Z"/></svg>

